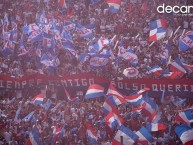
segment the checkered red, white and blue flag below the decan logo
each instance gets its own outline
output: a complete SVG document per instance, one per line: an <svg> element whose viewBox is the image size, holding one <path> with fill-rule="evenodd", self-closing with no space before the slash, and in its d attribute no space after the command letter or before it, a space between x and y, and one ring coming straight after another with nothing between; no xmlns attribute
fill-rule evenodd
<svg viewBox="0 0 193 145"><path fill-rule="evenodd" d="M166 21L164 19L158 19L150 24L149 41L157 41L165 37L166 35Z"/></svg>

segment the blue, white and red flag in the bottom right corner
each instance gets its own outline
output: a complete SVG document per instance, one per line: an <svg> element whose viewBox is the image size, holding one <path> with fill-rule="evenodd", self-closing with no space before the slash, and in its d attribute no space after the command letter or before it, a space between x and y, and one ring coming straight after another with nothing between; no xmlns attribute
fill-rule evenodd
<svg viewBox="0 0 193 145"><path fill-rule="evenodd" d="M184 145L193 144L193 128L186 124L179 125L175 128L175 133Z"/></svg>

